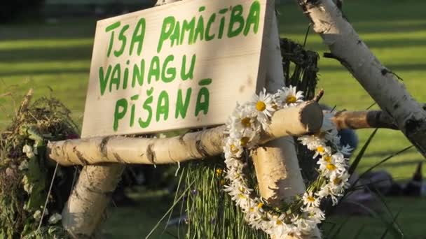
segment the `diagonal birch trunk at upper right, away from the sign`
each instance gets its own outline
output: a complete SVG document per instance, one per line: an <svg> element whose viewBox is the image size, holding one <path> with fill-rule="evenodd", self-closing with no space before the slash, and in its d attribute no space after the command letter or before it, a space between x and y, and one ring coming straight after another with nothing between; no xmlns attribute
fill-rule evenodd
<svg viewBox="0 0 426 239"><path fill-rule="evenodd" d="M313 29L329 47L329 57L343 64L370 96L394 118L406 138L426 157L426 112L398 78L359 38L332 0L298 0Z"/></svg>

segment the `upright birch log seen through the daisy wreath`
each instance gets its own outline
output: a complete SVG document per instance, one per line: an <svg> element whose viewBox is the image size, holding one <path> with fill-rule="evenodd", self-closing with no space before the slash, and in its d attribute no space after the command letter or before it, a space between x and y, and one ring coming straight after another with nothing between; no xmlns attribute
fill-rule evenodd
<svg viewBox="0 0 426 239"><path fill-rule="evenodd" d="M267 22L267 20L270 22ZM268 61L266 90L275 93L284 86L277 18L275 16L268 18L267 16L266 24L271 24L270 33L265 34L266 39L263 39L263 41L266 41L268 55L266 59L261 60ZM278 206L282 201L286 201L297 194L303 194L305 191L292 136L273 140L257 150L253 150L252 158L259 192L271 205ZM284 239L294 238L293 236L286 236ZM315 229L312 235L303 236L303 238L321 238L321 233L318 229Z"/></svg>

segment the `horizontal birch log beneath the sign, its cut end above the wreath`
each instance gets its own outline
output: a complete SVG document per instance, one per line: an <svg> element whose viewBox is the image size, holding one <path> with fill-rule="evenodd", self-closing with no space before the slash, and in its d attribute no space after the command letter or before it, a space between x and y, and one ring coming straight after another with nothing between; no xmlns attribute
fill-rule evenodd
<svg viewBox="0 0 426 239"><path fill-rule="evenodd" d="M283 136L318 131L322 110L315 101L278 110L261 144ZM225 126L186 133L173 138L126 138L107 136L48 143L48 157L63 166L101 163L172 164L221 154Z"/></svg>

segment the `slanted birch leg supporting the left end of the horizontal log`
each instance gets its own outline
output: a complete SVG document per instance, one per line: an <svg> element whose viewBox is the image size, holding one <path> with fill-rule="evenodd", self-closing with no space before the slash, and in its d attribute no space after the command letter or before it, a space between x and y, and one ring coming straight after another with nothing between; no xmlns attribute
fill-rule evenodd
<svg viewBox="0 0 426 239"><path fill-rule="evenodd" d="M179 0L160 0L156 6L174 1ZM124 164L83 167L62 210L62 226L71 236L89 238L95 233L124 168Z"/></svg>

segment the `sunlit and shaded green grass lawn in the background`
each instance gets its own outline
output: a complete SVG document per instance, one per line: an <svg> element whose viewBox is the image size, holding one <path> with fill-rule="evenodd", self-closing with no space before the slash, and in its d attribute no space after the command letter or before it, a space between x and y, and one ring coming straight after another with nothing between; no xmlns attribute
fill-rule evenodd
<svg viewBox="0 0 426 239"><path fill-rule="evenodd" d="M426 2L347 0L343 8L345 15L378 59L404 78L406 88L415 99L426 102L426 94L423 92L426 86ZM301 10L291 2L281 6L280 13L281 36L303 43L308 20ZM94 31L95 19L88 18L60 20L52 24L34 22L0 25L2 129L30 87L36 90L36 96L50 95L53 90L53 95L62 100L72 110L74 118L81 122ZM318 51L320 55L327 51L320 37L312 32L308 36L306 48ZM321 58L319 67L319 87L326 91L322 99L324 103L347 110L364 110L373 103L371 97L336 60ZM371 130L358 131L360 145L370 133ZM399 131L380 129L359 165L359 172L407 145L408 140ZM394 178L407 180L416 164L422 160L421 155L412 149L390 159L379 168L389 171ZM145 236L156 219L167 210L168 201L158 198L163 197L142 198L142 204L137 210L113 210L105 231L113 238L122 238L120 235L124 233L128 238ZM421 213L426 210L425 200L389 200L392 209L401 210L398 222L406 232L406 238L425 238L423 232L426 230L421 226L426 219ZM366 236L380 237L380 232L371 230L385 230L384 227L376 227L380 223L378 220L364 217L353 217L350 220L355 226L345 226L345 233L350 233L355 227L364 227Z"/></svg>

